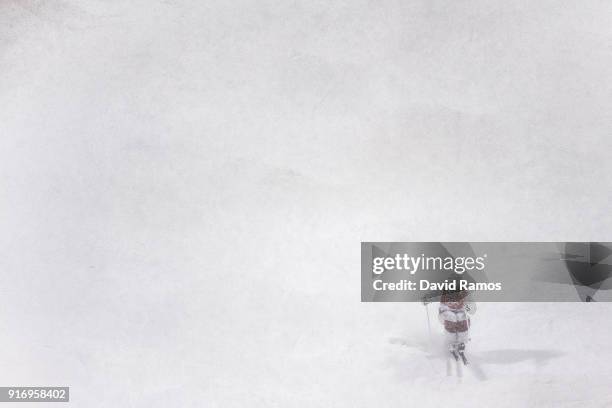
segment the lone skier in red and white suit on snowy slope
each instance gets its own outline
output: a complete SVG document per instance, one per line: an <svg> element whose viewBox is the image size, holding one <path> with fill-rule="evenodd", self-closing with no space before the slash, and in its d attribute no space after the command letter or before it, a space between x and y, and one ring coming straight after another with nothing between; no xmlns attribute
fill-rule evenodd
<svg viewBox="0 0 612 408"><path fill-rule="evenodd" d="M470 315L476 313L476 303L465 291L443 292L440 298L438 319L444 325L446 344L455 360L467 364L465 344L470 341Z"/></svg>

